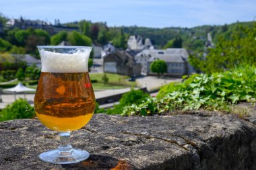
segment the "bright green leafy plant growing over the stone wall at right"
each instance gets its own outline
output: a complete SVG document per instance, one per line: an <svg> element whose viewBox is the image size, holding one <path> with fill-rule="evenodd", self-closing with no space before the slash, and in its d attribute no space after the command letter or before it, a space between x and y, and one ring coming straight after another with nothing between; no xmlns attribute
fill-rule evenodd
<svg viewBox="0 0 256 170"><path fill-rule="evenodd" d="M164 114L174 110L221 110L230 112L230 105L256 101L256 67L243 65L224 73L192 75L174 85L166 85L157 97L123 109L123 115Z"/></svg>

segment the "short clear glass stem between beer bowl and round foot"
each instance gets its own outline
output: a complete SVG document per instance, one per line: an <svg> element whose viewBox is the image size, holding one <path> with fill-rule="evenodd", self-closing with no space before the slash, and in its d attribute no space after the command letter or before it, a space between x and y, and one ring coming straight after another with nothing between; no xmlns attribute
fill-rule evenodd
<svg viewBox="0 0 256 170"><path fill-rule="evenodd" d="M59 155L67 156L73 153L73 148L70 145L70 132L59 133L60 144L58 147Z"/></svg>

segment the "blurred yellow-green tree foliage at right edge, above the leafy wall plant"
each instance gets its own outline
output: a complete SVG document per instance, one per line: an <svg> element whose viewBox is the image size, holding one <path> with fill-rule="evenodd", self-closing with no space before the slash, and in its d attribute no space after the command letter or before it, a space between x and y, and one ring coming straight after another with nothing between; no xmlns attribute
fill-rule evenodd
<svg viewBox="0 0 256 170"><path fill-rule="evenodd" d="M191 64L204 73L215 73L232 69L242 62L256 65L256 24L253 28L237 27L226 40L218 38L215 48L209 49L206 57L203 55L190 56Z"/></svg>

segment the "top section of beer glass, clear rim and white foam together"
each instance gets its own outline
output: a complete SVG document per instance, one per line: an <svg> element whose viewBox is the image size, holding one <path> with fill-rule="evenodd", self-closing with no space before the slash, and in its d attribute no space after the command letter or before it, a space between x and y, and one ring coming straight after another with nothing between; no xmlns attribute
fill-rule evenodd
<svg viewBox="0 0 256 170"><path fill-rule="evenodd" d="M38 46L42 72L84 73L88 72L91 47Z"/></svg>

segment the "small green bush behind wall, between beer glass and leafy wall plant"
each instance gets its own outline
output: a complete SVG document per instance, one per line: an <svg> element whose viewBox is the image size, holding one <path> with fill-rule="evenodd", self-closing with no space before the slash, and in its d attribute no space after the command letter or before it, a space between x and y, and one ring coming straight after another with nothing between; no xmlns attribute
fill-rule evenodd
<svg viewBox="0 0 256 170"><path fill-rule="evenodd" d="M123 108L132 104L140 104L141 101L149 97L148 93L144 93L141 90L131 90L128 93L122 95L119 100L119 104L115 105L113 109L108 109L107 114L121 114Z"/></svg>

